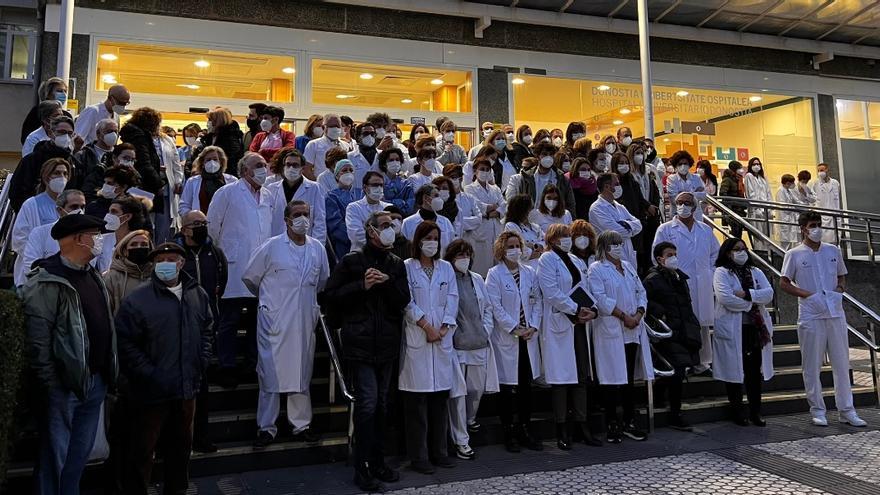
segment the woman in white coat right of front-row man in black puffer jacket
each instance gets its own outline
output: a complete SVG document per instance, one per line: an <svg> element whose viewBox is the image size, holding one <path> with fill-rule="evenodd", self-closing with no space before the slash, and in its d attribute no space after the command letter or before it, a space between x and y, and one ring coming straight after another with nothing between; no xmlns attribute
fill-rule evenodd
<svg viewBox="0 0 880 495"><path fill-rule="evenodd" d="M440 227L424 221L413 235L413 257L406 260L412 300L406 308L398 388L406 418L410 467L430 474L452 467L446 452L449 392L456 373L452 336L458 316L458 284L452 265L440 259ZM460 383L458 386L461 386ZM429 462L430 461L430 462Z"/></svg>

